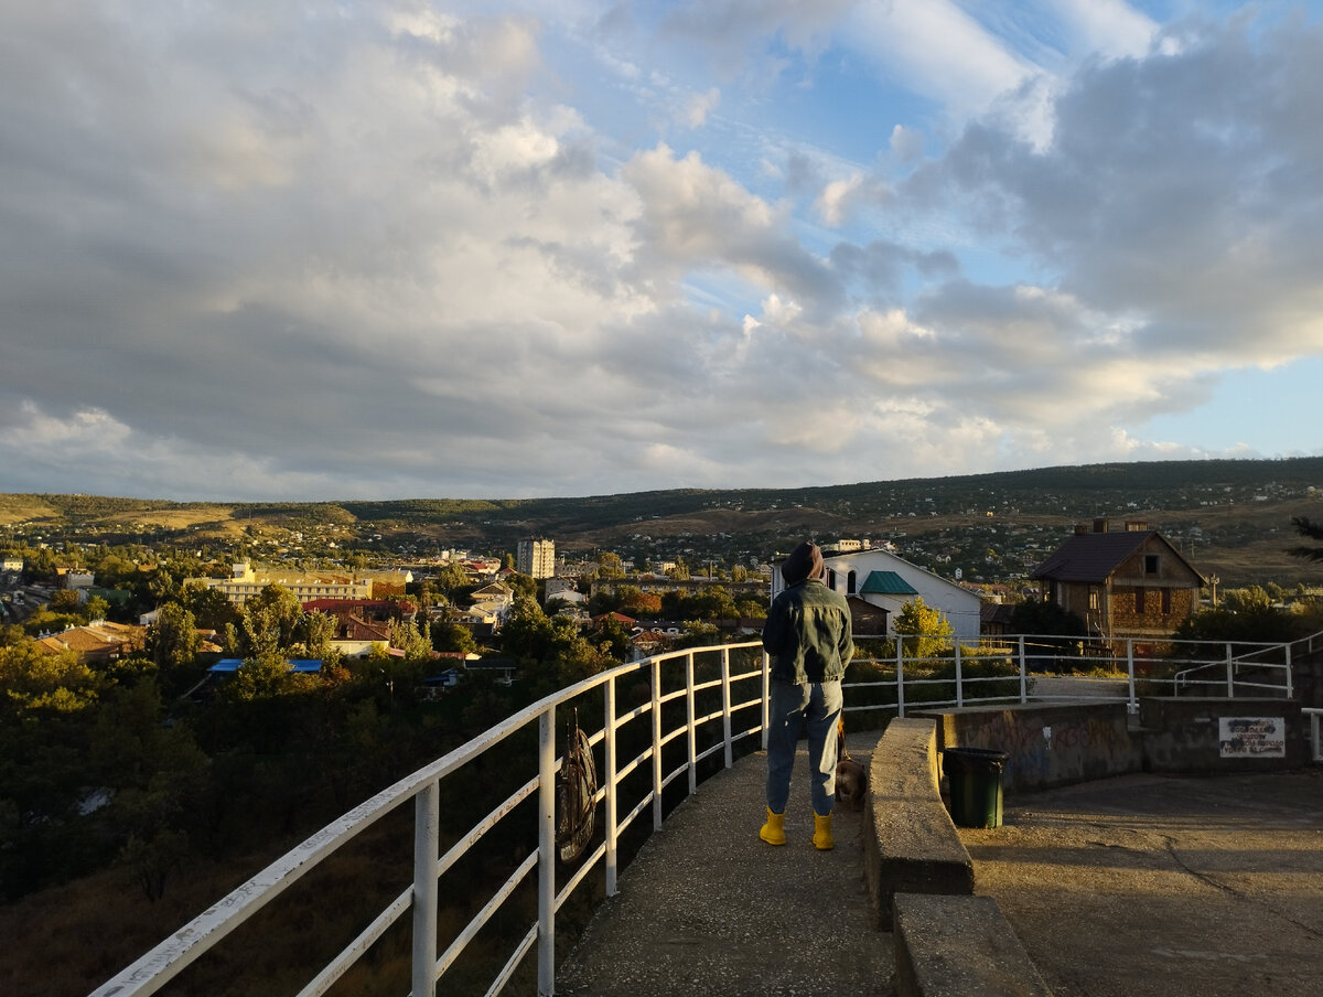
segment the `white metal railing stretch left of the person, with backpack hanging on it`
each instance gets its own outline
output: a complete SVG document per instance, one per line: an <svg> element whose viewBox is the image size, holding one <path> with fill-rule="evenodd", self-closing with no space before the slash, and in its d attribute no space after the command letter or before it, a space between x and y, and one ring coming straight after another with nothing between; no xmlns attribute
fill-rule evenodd
<svg viewBox="0 0 1323 997"><path fill-rule="evenodd" d="M751 669L732 674L732 651L757 649L757 662ZM699 681L696 662L713 663L720 670L717 678ZM683 666L681 681L667 690L663 686L663 669ZM623 712L618 708L618 683L636 673L647 673L651 688L650 699ZM339 847L376 824L401 804L414 804L414 871L413 883L392 900L360 935L328 963L300 992L299 997L316 997L325 993L363 955L381 939L407 911L413 912L413 993L433 994L438 981L463 952L464 947L495 916L505 900L516 891L531 873L537 870L537 918L519 940L505 965L492 981L488 994L495 994L509 981L524 957L537 948L537 989L540 994L554 993L556 974L556 915L569 899L574 888L587 874L602 863L606 877L606 894L617 892L619 835L630 824L646 812L651 802L652 829L662 826L663 790L677 776L688 772L689 793L697 788L697 763L708 756L722 752L724 764L733 764L736 741L758 735L766 730L766 687L767 658L757 641L697 647L683 651L658 654L643 661L623 665L599 675L583 679L558 692L554 692L532 706L520 710L484 734L474 737L455 751L445 755L431 765L400 780L393 786L381 790L344 817L323 828L302 845L273 862L243 886L234 890L214 907L194 918L180 931L161 941L136 963L118 973L114 978L93 990L93 997L146 997L156 993L180 972L197 961L200 956L214 948L225 936L243 924L262 907L279 896L300 877L311 871ZM733 699L733 687L741 682L759 681L755 695L740 702ZM558 706L570 703L597 688L603 690L602 728L589 737L593 745L602 745L603 761L602 786L594 798L594 806L605 802L605 833L601 843L573 874L557 888L556 865L556 712ZM720 706L703 715L696 714L699 696L705 690L713 690L710 696L720 695ZM720 690L720 692L717 692ZM668 703L683 704L683 720L673 728L663 731L663 707ZM757 723L744 730L734 730L733 718L757 712ZM617 735L631 720L644 715L651 716L651 737L643 751L634 759L620 761L617 757ZM720 720L720 731L708 734ZM505 741L524 728L537 726L537 767L536 773L519 786L513 794L500 802L491 813L474 825L446 851L439 854L439 801L441 783L463 765L482 756L496 744ZM700 731L704 735L700 737ZM685 757L671 772L663 771L663 748L672 740L684 739ZM619 788L624 779L651 760L651 788L627 814L620 814L622 801ZM537 806L537 849L515 870L507 882L497 888L474 919L459 931L445 952L438 949L438 898L445 874L463 858L468 850L503 818L507 818L521 802L536 794Z"/></svg>

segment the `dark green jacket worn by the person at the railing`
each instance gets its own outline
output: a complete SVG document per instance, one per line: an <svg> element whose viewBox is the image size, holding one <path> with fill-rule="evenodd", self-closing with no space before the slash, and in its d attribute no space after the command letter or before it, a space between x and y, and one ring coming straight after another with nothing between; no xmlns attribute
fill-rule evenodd
<svg viewBox="0 0 1323 997"><path fill-rule="evenodd" d="M802 686L840 682L855 654L849 605L819 579L785 589L771 602L762 646L771 655L771 677Z"/></svg>

